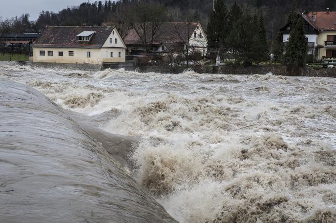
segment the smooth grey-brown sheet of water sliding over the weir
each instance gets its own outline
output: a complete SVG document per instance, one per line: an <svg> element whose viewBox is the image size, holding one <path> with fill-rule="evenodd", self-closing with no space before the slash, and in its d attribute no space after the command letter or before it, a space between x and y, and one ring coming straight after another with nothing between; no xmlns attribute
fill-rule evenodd
<svg viewBox="0 0 336 223"><path fill-rule="evenodd" d="M0 222L175 222L66 111L0 79Z"/></svg>

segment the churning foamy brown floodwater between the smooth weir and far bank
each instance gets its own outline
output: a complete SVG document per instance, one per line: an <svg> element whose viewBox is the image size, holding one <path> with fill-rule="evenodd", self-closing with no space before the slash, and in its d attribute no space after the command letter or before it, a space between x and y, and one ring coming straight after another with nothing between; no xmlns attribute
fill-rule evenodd
<svg viewBox="0 0 336 223"><path fill-rule="evenodd" d="M135 139L125 169L179 222L336 222L335 78L14 62L0 78Z"/></svg>

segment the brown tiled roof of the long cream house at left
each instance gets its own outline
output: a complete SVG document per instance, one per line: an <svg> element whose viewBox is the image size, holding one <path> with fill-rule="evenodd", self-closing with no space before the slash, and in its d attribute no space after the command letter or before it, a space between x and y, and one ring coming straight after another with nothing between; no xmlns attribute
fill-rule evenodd
<svg viewBox="0 0 336 223"><path fill-rule="evenodd" d="M114 27L111 26L47 26L34 47L101 48ZM90 41L78 41L84 31L95 32Z"/></svg>

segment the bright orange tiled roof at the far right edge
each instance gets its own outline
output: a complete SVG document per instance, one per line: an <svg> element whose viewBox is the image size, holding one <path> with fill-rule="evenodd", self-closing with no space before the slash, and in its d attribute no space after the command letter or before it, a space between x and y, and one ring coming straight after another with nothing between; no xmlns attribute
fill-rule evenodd
<svg viewBox="0 0 336 223"><path fill-rule="evenodd" d="M313 21L313 15L316 15L315 21ZM310 12L307 18L318 30L336 31L336 12Z"/></svg>

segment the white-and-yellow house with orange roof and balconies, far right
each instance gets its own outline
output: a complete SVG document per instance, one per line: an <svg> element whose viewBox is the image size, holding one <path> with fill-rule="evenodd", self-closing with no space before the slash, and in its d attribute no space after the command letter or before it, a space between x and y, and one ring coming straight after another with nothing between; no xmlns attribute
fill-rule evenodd
<svg viewBox="0 0 336 223"><path fill-rule="evenodd" d="M336 63L336 12L329 9L323 12L310 12L300 17L305 22L305 36L308 41L308 55L314 55L315 61ZM291 24L283 31L283 41L287 42Z"/></svg>

